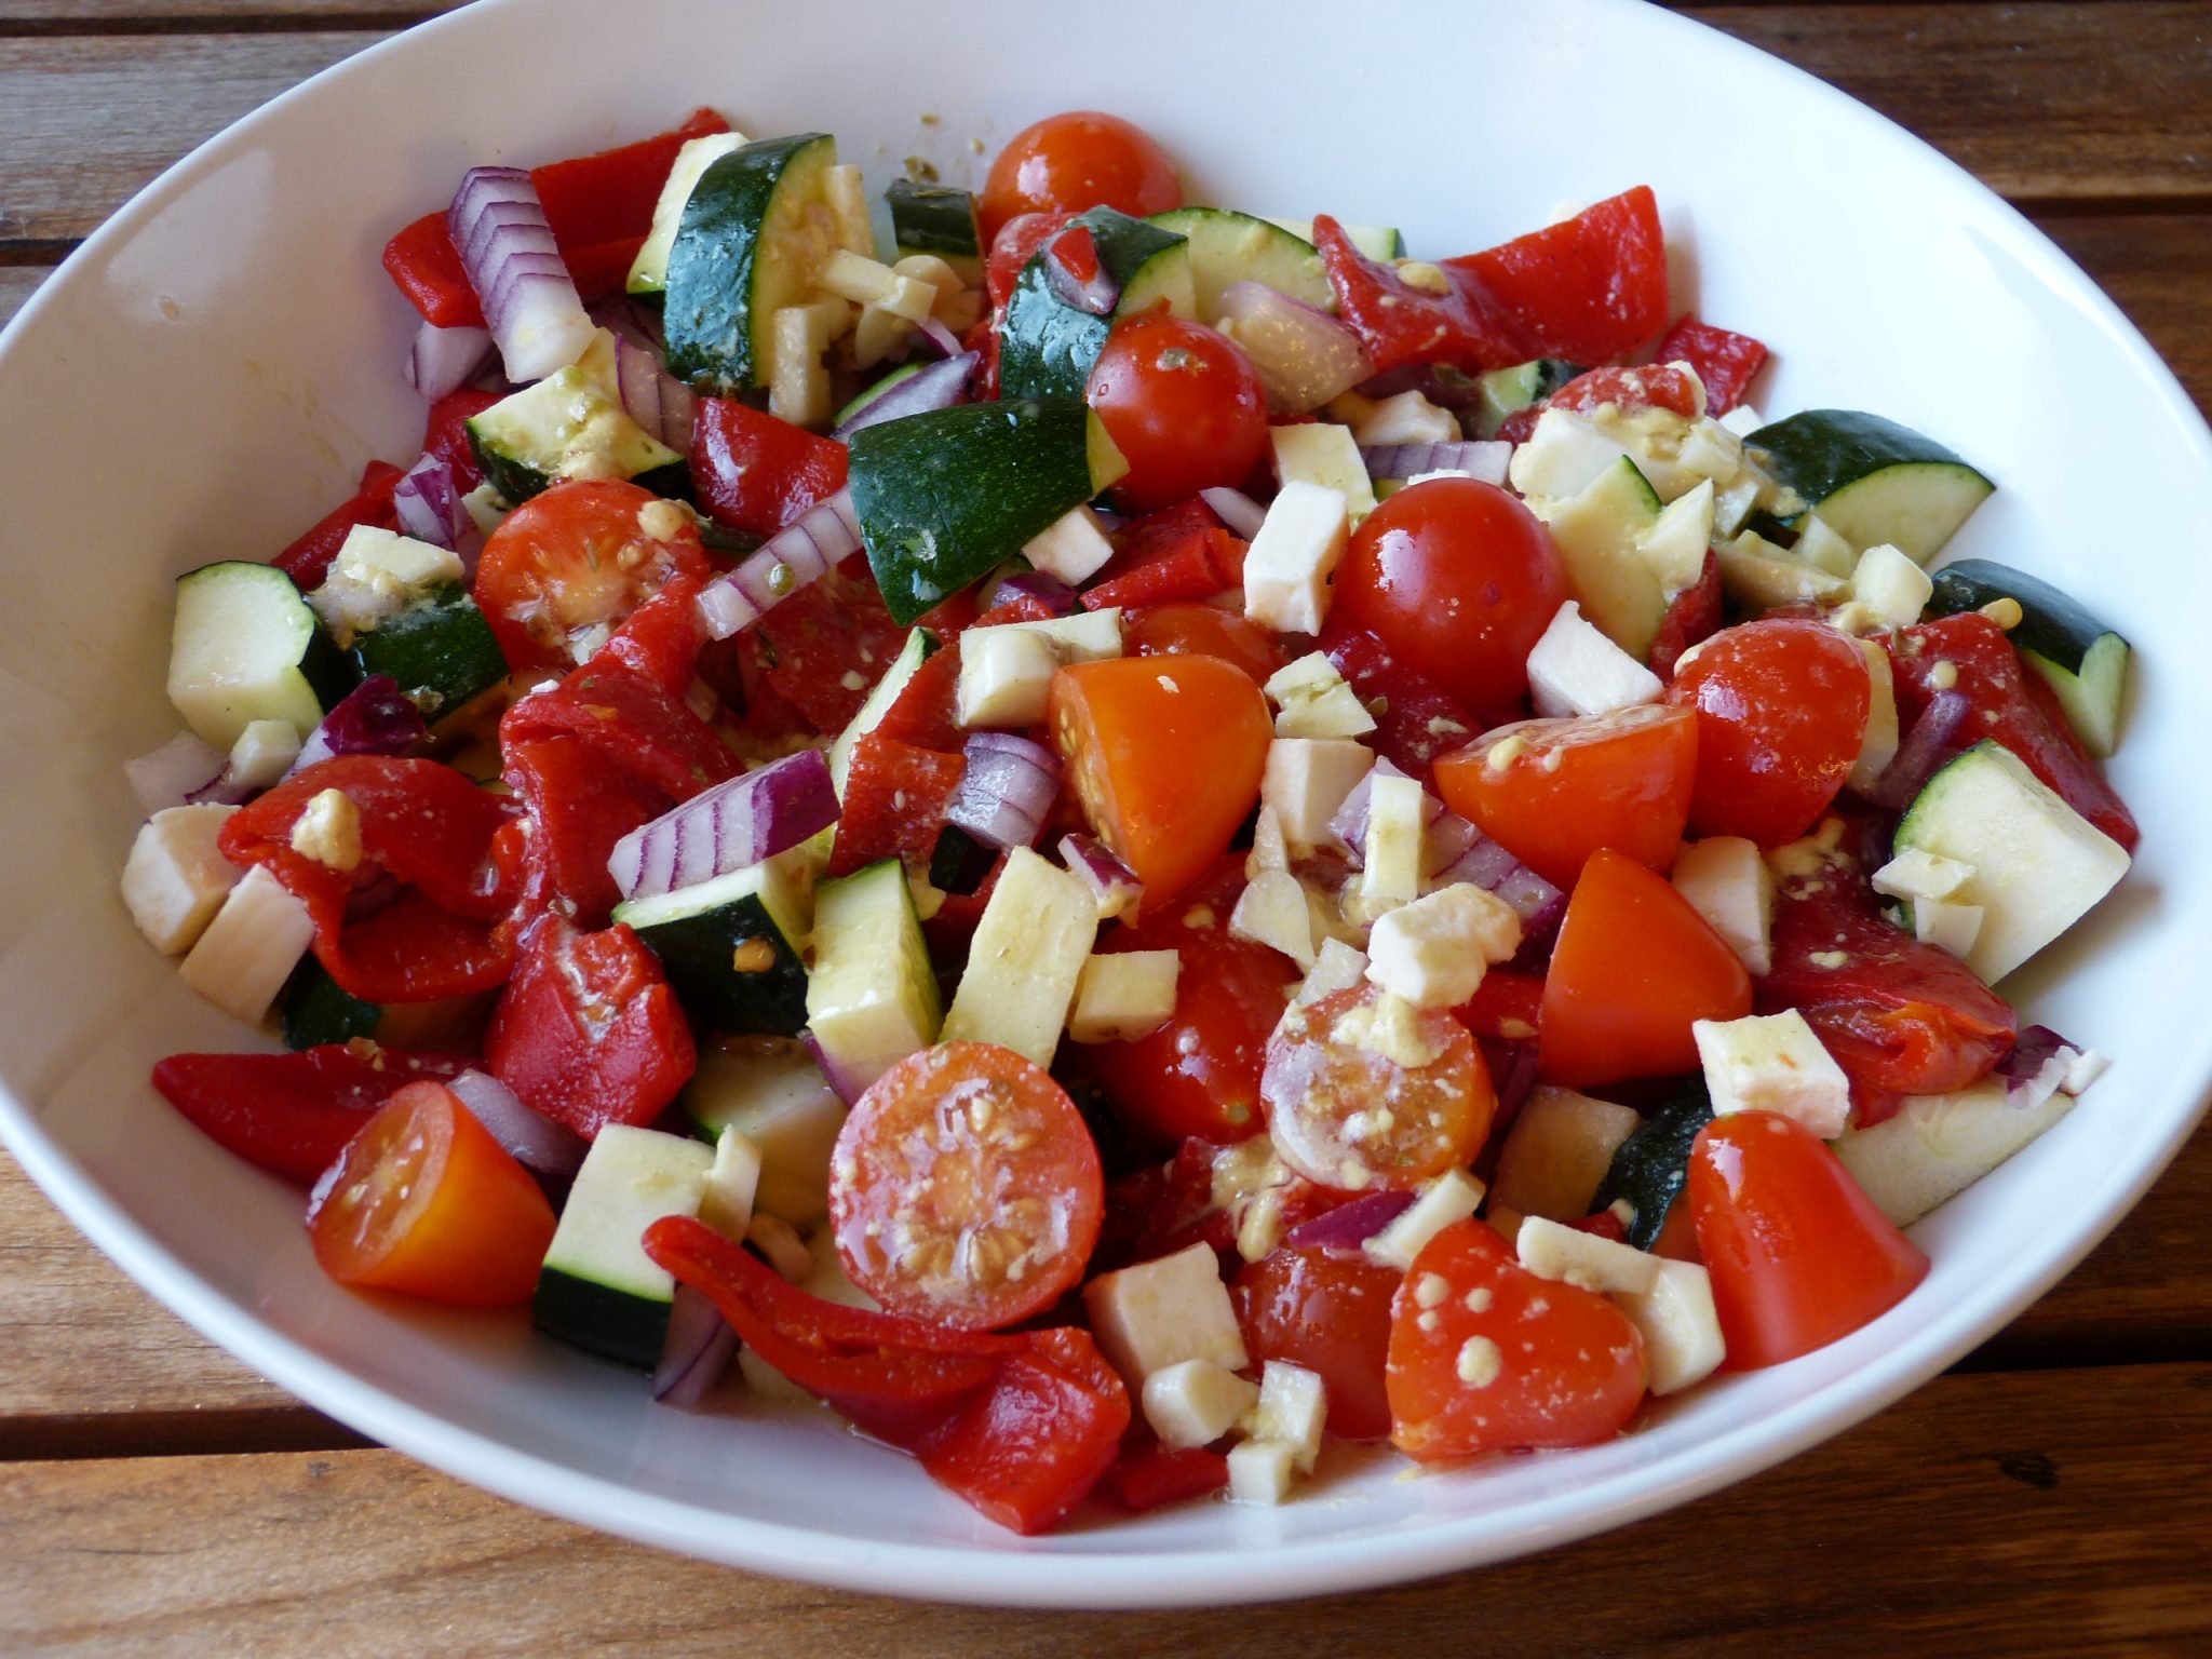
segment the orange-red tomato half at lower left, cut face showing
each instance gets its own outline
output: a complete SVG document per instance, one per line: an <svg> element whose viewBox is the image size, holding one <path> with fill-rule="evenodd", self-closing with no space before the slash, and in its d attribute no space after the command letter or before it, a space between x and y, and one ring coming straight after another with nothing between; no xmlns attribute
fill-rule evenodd
<svg viewBox="0 0 2212 1659"><path fill-rule="evenodd" d="M307 1201L307 1237L341 1285L453 1307L529 1298L553 1206L451 1088L400 1088Z"/></svg>

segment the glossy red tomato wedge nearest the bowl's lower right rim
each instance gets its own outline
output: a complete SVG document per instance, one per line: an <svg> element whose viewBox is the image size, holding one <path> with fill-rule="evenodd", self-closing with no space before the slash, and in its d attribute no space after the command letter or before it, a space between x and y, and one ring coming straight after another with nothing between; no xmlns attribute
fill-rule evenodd
<svg viewBox="0 0 2212 1659"><path fill-rule="evenodd" d="M1774 1113L1732 1113L1699 1130L1688 1197L1730 1371L1827 1347L1929 1272L1836 1155Z"/></svg>

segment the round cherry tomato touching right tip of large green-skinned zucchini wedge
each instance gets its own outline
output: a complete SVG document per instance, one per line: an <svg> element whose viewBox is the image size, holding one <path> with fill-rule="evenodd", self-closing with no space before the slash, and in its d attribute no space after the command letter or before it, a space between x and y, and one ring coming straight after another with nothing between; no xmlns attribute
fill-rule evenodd
<svg viewBox="0 0 2212 1659"><path fill-rule="evenodd" d="M1113 487L1126 513L1241 484L1267 453L1267 394L1252 358L1203 323L1166 312L1115 325L1084 400L1128 460Z"/></svg>

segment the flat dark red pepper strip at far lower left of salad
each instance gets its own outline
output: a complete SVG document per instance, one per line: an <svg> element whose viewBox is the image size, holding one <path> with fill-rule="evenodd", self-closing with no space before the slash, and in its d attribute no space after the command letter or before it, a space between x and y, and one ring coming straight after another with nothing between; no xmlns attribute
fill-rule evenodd
<svg viewBox="0 0 2212 1659"><path fill-rule="evenodd" d="M349 1042L292 1055L170 1055L155 1062L153 1086L226 1152L270 1175L314 1181L394 1093L467 1068L460 1055Z"/></svg>

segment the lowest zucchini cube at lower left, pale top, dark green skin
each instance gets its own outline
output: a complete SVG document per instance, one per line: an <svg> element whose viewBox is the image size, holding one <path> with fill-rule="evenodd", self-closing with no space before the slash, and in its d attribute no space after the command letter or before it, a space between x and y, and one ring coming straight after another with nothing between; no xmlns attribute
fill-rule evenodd
<svg viewBox="0 0 2212 1659"><path fill-rule="evenodd" d="M602 1128L538 1270L531 1323L591 1354L657 1365L677 1281L639 1239L661 1217L697 1214L712 1166L714 1150L684 1135Z"/></svg>

